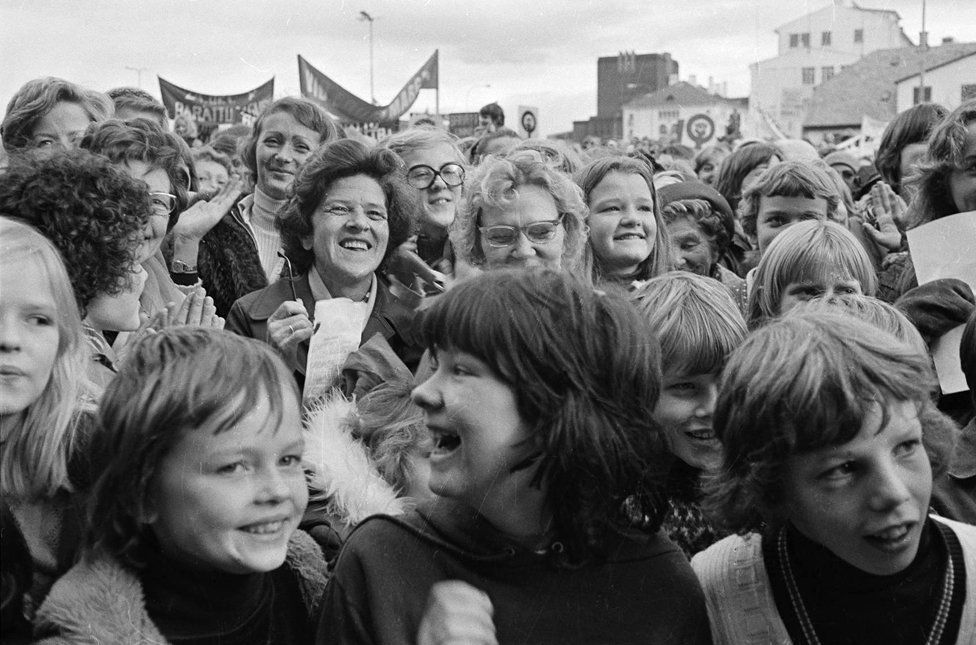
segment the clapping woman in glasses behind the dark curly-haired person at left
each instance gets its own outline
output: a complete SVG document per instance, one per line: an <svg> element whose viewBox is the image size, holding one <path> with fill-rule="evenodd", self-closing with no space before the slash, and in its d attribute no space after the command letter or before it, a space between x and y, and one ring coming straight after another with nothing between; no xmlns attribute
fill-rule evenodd
<svg viewBox="0 0 976 645"><path fill-rule="evenodd" d="M147 119L127 122L109 119L90 129L82 139L81 147L108 157L112 165L149 189L152 216L143 228L136 258L147 273L146 286L140 297L146 319L154 318L156 327L169 324L223 326L212 299L203 292L196 275L189 284L178 286L170 276L161 250L168 232L178 223L185 225L193 219L193 213L185 211L187 191L185 180L179 176L183 168L176 136ZM126 339L120 338L116 348L124 342Z"/></svg>

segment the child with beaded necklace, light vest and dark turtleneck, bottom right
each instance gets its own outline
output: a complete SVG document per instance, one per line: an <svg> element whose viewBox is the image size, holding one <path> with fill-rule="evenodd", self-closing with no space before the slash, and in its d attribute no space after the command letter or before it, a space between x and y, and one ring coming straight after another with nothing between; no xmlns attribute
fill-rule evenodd
<svg viewBox="0 0 976 645"><path fill-rule="evenodd" d="M929 360L848 315L791 314L729 359L692 559L715 643L970 643L976 527L930 517L955 427Z"/></svg>

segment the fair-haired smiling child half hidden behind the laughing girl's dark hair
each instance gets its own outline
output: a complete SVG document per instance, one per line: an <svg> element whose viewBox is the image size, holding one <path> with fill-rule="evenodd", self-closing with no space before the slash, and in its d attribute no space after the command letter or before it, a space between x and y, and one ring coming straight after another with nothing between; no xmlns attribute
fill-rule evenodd
<svg viewBox="0 0 976 645"><path fill-rule="evenodd" d="M678 458L664 530L690 557L721 535L702 513L701 481L722 463L712 413L719 374L745 338L746 323L726 288L684 271L650 280L633 299L661 342L664 379L654 420Z"/></svg>

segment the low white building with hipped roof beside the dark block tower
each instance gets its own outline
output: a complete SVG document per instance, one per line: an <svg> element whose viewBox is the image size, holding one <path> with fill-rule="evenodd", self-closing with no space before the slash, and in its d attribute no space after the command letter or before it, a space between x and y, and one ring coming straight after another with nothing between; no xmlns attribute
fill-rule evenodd
<svg viewBox="0 0 976 645"><path fill-rule="evenodd" d="M624 138L648 137L700 148L725 134L733 113L741 120L746 110L743 99L727 99L681 81L624 103Z"/></svg>

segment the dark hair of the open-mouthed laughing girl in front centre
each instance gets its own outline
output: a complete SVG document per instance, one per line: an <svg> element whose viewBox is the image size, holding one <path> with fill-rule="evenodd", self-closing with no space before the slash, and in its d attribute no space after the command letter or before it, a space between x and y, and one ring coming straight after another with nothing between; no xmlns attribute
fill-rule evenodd
<svg viewBox="0 0 976 645"><path fill-rule="evenodd" d="M501 269L436 299L420 323L430 349L483 361L507 383L538 449L556 540L570 562L603 555L628 498L654 497L669 453L653 418L661 388L653 330L622 297L566 271ZM648 526L661 507L645 507Z"/></svg>

